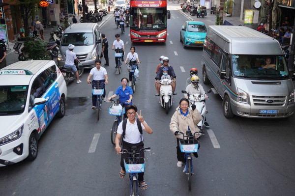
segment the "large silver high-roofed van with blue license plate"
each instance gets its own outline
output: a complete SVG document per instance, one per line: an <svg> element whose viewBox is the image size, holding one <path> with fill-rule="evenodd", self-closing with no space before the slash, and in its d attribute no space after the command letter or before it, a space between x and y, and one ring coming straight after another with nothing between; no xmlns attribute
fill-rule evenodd
<svg viewBox="0 0 295 196"><path fill-rule="evenodd" d="M294 85L277 40L247 27L209 26L202 58L225 117L285 118L295 111Z"/></svg>

